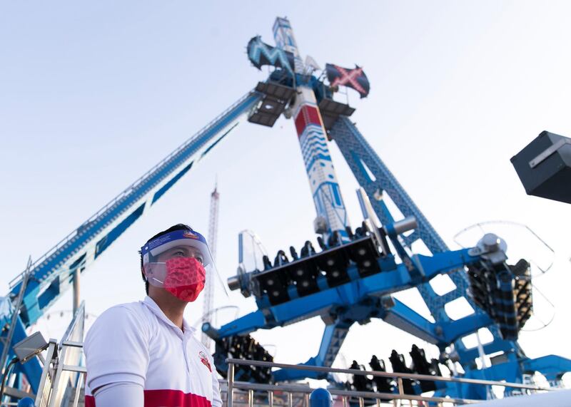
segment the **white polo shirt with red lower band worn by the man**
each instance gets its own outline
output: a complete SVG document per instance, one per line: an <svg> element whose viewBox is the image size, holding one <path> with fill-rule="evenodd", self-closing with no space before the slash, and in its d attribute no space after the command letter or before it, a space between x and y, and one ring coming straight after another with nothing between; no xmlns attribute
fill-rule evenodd
<svg viewBox="0 0 571 407"><path fill-rule="evenodd" d="M150 297L103 312L84 344L86 407L91 389L118 382L143 386L145 407L221 407L212 357L186 320L183 328Z"/></svg>

